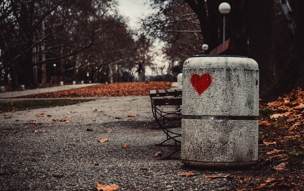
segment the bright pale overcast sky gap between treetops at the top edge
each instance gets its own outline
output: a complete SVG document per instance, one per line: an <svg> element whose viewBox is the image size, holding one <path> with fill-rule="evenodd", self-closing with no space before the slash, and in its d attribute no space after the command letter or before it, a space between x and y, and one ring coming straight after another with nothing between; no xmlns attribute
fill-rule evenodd
<svg viewBox="0 0 304 191"><path fill-rule="evenodd" d="M136 27L136 22L139 21L139 17L143 16L147 10L147 5L144 3L147 0L118 0L119 2L119 11L122 15L129 17L129 25L133 28Z"/></svg>

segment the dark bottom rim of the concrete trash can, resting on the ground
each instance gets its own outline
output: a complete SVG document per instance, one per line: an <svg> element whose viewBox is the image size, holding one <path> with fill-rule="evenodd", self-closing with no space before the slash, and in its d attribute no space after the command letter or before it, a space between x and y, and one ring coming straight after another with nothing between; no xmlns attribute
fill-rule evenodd
<svg viewBox="0 0 304 191"><path fill-rule="evenodd" d="M247 162L201 162L201 161L189 161L182 160L182 162L187 167L195 167L200 169L232 169L232 168L242 168L250 167L257 163L257 161L247 161Z"/></svg>

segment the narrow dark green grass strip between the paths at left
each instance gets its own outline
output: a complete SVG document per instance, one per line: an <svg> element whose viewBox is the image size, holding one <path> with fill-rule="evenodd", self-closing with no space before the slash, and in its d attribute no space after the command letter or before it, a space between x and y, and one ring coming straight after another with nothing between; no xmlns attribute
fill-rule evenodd
<svg viewBox="0 0 304 191"><path fill-rule="evenodd" d="M50 100L25 100L0 103L1 110L22 110L25 108L40 108L50 106L72 105L81 102L92 101L93 99L50 99Z"/></svg>

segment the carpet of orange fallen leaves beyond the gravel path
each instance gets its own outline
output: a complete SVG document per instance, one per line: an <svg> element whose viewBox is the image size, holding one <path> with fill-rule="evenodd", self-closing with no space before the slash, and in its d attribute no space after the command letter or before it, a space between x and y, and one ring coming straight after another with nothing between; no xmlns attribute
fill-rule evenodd
<svg viewBox="0 0 304 191"><path fill-rule="evenodd" d="M168 89L171 82L124 82L98 84L72 90L61 90L41 94L20 96L20 98L61 98L61 97L106 97L106 96L142 96L150 90Z"/></svg>

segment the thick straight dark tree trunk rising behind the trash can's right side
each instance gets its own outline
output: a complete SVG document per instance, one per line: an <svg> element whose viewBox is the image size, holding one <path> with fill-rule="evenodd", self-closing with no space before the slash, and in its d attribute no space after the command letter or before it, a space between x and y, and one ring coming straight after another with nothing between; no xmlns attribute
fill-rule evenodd
<svg viewBox="0 0 304 191"><path fill-rule="evenodd" d="M260 93L270 87L273 82L275 55L273 19L273 1L248 1L248 57L259 64Z"/></svg>

